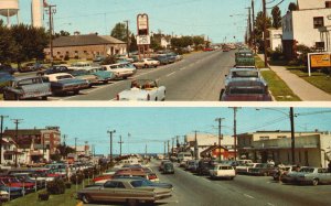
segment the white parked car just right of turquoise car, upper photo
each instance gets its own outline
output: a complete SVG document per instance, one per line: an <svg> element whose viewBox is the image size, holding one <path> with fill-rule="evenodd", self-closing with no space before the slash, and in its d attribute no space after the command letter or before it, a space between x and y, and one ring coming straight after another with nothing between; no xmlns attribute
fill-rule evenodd
<svg viewBox="0 0 331 206"><path fill-rule="evenodd" d="M117 63L117 64L110 64L110 65L103 65L106 71L113 72L115 75L115 78L121 78L126 79L134 74L136 74L137 69L131 63Z"/></svg>

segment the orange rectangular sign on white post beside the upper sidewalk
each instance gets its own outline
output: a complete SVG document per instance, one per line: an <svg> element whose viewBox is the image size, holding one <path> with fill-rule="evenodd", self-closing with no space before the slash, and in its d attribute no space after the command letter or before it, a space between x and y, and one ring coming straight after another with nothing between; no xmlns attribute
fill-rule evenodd
<svg viewBox="0 0 331 206"><path fill-rule="evenodd" d="M308 53L308 75L311 76L311 68L331 67L331 53Z"/></svg>

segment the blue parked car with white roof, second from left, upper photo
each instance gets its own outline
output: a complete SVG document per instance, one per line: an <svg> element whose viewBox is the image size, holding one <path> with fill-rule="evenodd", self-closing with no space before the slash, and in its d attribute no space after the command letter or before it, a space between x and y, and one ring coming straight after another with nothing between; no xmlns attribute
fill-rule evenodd
<svg viewBox="0 0 331 206"><path fill-rule="evenodd" d="M87 80L75 78L68 73L45 75L43 78L51 83L53 94L74 93L77 95L79 90L89 87Z"/></svg>

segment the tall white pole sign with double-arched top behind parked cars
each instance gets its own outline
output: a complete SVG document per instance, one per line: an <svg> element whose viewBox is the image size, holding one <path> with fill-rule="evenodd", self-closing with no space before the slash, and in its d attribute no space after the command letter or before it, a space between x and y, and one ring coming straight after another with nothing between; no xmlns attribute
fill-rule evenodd
<svg viewBox="0 0 331 206"><path fill-rule="evenodd" d="M139 58L141 54L143 57L149 54L150 35L149 35L149 22L146 13L137 15L137 45Z"/></svg>

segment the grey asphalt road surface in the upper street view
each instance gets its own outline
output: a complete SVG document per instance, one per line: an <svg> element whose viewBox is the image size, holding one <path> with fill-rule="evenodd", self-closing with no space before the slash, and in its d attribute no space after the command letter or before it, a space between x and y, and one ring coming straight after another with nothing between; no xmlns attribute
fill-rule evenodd
<svg viewBox="0 0 331 206"><path fill-rule="evenodd" d="M158 68L138 69L132 78L158 79L167 88L167 101L217 101L224 78L234 65L234 51L193 53L174 64ZM35 73L18 74L35 75ZM130 87L131 79L84 89L79 95L52 96L50 100L114 100L116 95Z"/></svg>

